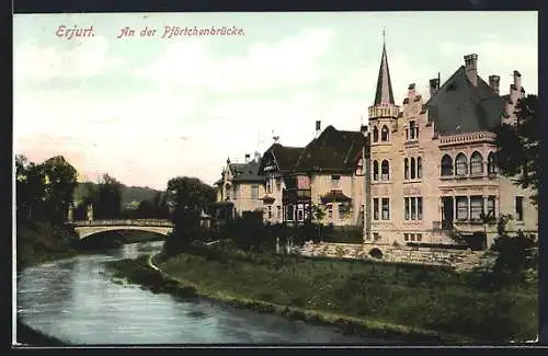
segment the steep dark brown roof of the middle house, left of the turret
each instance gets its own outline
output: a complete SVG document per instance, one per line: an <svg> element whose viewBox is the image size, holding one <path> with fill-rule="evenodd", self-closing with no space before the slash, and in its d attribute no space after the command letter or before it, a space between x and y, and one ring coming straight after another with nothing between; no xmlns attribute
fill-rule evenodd
<svg viewBox="0 0 548 356"><path fill-rule="evenodd" d="M342 131L330 125L302 149L294 171L354 171L355 161L364 145L365 137L362 133Z"/></svg>

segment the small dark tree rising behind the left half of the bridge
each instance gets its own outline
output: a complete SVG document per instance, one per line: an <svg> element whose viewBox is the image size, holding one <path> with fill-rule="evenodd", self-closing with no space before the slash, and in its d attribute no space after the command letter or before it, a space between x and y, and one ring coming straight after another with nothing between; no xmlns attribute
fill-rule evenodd
<svg viewBox="0 0 548 356"><path fill-rule="evenodd" d="M104 173L99 182L94 214L99 219L116 219L122 213L122 183Z"/></svg>

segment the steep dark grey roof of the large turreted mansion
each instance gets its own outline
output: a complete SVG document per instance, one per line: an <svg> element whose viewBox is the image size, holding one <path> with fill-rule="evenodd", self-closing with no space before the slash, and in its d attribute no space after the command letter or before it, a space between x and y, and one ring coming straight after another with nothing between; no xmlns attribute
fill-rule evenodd
<svg viewBox="0 0 548 356"><path fill-rule="evenodd" d="M504 99L480 77L473 87L461 66L429 100L426 107L436 133L473 133L492 129L501 123Z"/></svg>

